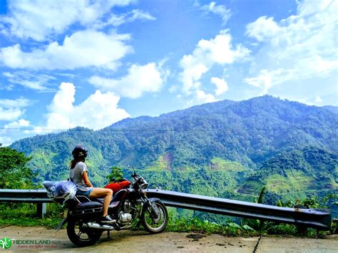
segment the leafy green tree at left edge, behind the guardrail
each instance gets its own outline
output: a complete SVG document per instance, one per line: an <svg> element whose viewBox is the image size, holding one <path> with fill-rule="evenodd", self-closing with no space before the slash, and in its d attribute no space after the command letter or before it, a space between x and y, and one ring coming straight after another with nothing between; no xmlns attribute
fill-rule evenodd
<svg viewBox="0 0 338 253"><path fill-rule="evenodd" d="M26 166L31 158L24 153L0 145L0 188L24 189L33 186L31 169Z"/></svg>

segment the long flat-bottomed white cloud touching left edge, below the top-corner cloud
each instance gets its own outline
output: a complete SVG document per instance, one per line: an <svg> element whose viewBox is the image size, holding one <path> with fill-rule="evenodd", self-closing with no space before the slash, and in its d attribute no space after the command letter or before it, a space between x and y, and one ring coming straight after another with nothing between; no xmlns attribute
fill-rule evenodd
<svg viewBox="0 0 338 253"><path fill-rule="evenodd" d="M132 49L125 44L128 35L105 34L86 30L66 36L63 45L54 41L46 48L34 48L30 52L21 50L16 44L0 50L0 62L9 68L33 70L74 69L96 66L116 68L118 60Z"/></svg>

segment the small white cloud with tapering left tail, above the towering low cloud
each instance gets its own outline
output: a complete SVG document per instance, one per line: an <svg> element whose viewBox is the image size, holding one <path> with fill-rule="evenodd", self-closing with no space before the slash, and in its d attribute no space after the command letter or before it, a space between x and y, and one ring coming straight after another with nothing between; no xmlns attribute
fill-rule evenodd
<svg viewBox="0 0 338 253"><path fill-rule="evenodd" d="M120 79L93 76L89 83L103 91L113 91L123 97L140 98L143 93L159 91L163 85L162 76L160 66L155 63L144 66L134 64L128 69L128 74Z"/></svg>

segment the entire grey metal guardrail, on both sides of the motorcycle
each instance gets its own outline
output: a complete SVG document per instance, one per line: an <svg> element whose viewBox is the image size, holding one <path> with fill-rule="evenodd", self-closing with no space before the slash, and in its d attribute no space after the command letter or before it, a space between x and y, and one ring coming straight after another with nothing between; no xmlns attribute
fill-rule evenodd
<svg viewBox="0 0 338 253"><path fill-rule="evenodd" d="M148 197L158 197L169 207L212 212L220 215L246 217L257 220L270 220L296 224L315 229L331 229L331 210L275 207L238 200L227 200L219 197L207 197L182 192L148 189ZM46 190L4 190L0 189L0 202L37 203L37 214L46 214L46 203L52 202Z"/></svg>

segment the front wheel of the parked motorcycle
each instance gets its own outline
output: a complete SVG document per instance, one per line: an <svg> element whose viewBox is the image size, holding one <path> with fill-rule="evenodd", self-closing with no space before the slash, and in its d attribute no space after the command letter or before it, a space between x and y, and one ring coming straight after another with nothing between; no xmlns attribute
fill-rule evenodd
<svg viewBox="0 0 338 253"><path fill-rule="evenodd" d="M160 201L153 202L152 205L153 206L155 205L154 209L156 210L158 217L153 217L150 211L151 207L148 207L147 210L143 212L142 224L143 224L143 227L148 232L152 234L156 234L156 233L163 232L163 230L167 226L168 211L165 205Z"/></svg>

